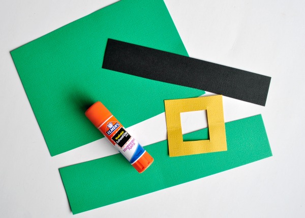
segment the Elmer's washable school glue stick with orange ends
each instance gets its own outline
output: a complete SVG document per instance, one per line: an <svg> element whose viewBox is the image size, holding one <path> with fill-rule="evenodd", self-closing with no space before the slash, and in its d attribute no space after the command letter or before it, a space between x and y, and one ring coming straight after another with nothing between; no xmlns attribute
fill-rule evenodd
<svg viewBox="0 0 305 218"><path fill-rule="evenodd" d="M139 173L153 163L154 159L149 153L126 132L122 124L101 102L89 107L85 115Z"/></svg>

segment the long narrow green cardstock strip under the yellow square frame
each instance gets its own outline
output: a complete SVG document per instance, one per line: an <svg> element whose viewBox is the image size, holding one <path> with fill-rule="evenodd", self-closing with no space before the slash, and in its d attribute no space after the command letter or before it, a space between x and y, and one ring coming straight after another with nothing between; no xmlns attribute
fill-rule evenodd
<svg viewBox="0 0 305 218"><path fill-rule="evenodd" d="M156 192L272 155L261 115L227 122L227 151L170 158L167 141L145 146L155 159L138 173L123 155L60 168L73 214ZM208 139L203 129L185 140Z"/></svg>

